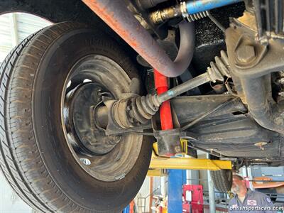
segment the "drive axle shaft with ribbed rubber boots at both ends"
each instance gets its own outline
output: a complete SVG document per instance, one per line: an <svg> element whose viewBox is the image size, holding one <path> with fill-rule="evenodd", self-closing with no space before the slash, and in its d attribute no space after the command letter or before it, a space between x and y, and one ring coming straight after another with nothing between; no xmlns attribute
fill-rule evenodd
<svg viewBox="0 0 284 213"><path fill-rule="evenodd" d="M221 59L222 61L226 61L223 60L224 57ZM224 65L224 63L222 63L222 65ZM98 108L97 110L99 110L100 113L95 112L95 119L99 124L108 124L108 122L105 121L105 119L108 118L109 121L115 121L116 125L122 129L129 129L146 124L148 120L152 119L152 116L159 110L159 107L163 102L168 101L173 97L177 97L190 89L199 87L204 83L224 81L223 76L226 75L226 73L222 72L222 68L224 68L222 65L220 65L219 62L219 64L214 66L214 69L209 67L207 72L204 72L202 75L194 77L162 94L147 94L146 96L137 95L126 99L120 99L118 101L107 100L104 103L107 106L104 108L107 108L107 110ZM107 102L111 102L111 104L107 104ZM109 116L111 116L111 119ZM104 121L101 121L102 119L104 119ZM103 126L103 128L106 127L107 126L105 125Z"/></svg>

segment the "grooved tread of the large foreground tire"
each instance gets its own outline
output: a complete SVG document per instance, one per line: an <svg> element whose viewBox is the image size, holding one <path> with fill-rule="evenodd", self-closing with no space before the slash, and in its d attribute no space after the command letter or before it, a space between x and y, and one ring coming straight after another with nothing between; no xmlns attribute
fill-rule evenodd
<svg viewBox="0 0 284 213"><path fill-rule="evenodd" d="M70 200L46 172L31 122L36 67L54 40L78 26L86 27L66 22L30 35L0 67L0 168L17 195L38 212L93 212Z"/></svg>

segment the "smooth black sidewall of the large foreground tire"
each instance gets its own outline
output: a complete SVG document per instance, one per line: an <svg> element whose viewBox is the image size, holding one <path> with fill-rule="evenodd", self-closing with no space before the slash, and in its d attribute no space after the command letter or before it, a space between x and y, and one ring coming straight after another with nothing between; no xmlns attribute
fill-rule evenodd
<svg viewBox="0 0 284 213"><path fill-rule="evenodd" d="M121 203L128 204L143 183L151 159L151 142L147 142L150 138L143 138L136 165L125 178L115 182L92 178L73 158L62 129L61 91L72 65L89 54L107 56L130 78L138 77L133 62L106 35L84 28L62 35L49 46L35 73L35 140L48 173L67 197L86 209L120 209Z"/></svg>

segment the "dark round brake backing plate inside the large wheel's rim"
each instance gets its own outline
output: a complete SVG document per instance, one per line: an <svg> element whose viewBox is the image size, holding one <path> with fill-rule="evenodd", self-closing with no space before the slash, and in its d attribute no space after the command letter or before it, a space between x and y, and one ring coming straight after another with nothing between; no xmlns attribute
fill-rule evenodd
<svg viewBox="0 0 284 213"><path fill-rule="evenodd" d="M102 104L102 97L111 93L97 82L81 84L67 94L68 121L74 134L76 150L88 155L109 153L121 136L106 136L97 124L94 111Z"/></svg>

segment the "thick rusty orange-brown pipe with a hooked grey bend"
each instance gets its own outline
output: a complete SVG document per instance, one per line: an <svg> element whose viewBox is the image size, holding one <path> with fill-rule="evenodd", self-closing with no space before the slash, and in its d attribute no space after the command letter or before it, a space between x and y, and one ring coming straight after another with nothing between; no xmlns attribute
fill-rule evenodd
<svg viewBox="0 0 284 213"><path fill-rule="evenodd" d="M124 0L82 1L161 74L177 77L190 65L195 48L195 28L192 23L180 23L181 45L178 56L173 62L127 9Z"/></svg>

